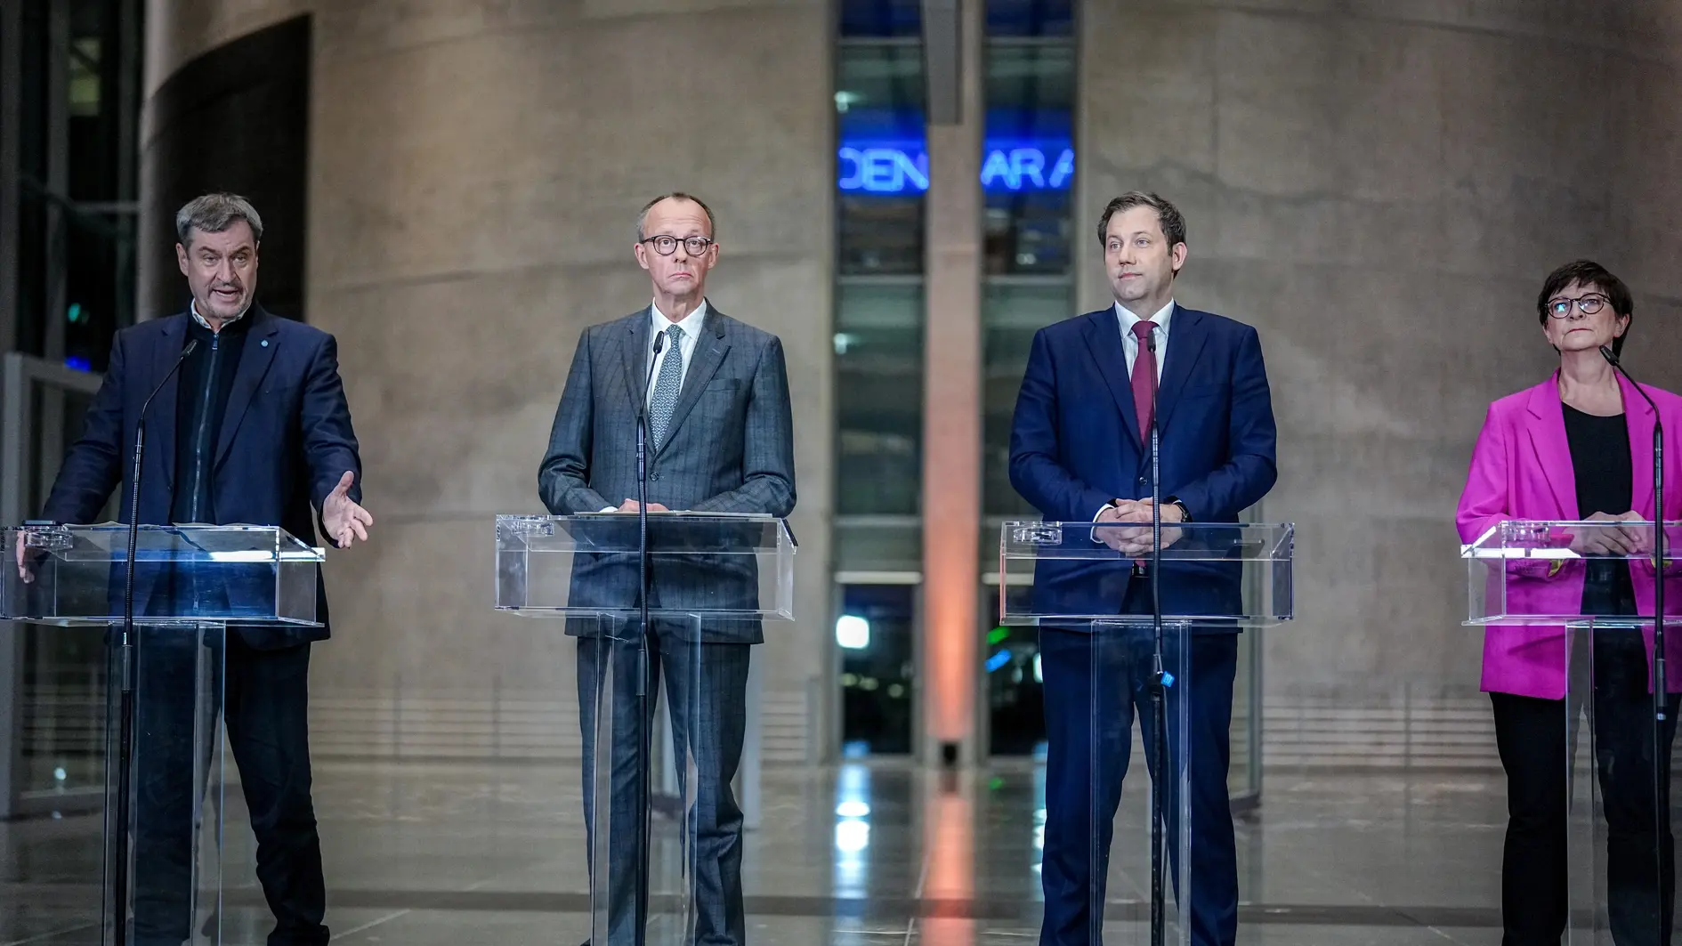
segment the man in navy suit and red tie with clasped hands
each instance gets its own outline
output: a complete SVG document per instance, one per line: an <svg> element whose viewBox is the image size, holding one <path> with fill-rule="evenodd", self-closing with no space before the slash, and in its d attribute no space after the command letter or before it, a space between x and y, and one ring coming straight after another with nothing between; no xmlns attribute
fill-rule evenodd
<svg viewBox="0 0 1682 946"><path fill-rule="evenodd" d="M1186 263L1186 222L1154 194L1129 192L1098 222L1115 305L1041 328L1028 357L1011 429L1011 483L1046 520L1149 523L1150 412L1161 431L1162 510L1181 522L1238 522L1273 486L1275 428L1262 343L1255 328L1174 303ZM1152 391L1156 391L1152 404ZM1125 557L1142 559L1140 529L1093 530ZM1164 539L1177 530L1164 529ZM1090 539L1083 539L1090 540ZM1150 614L1147 569L1041 569L1036 584L1083 599L1075 613ZM1166 566L1166 562L1164 562ZM1169 611L1230 614L1236 576L1164 571ZM1080 587L1076 587L1080 586ZM1093 609L1092 598L1105 594ZM1172 596L1172 599L1171 599ZM1204 598L1199 606L1196 598ZM1127 773L1132 719L1154 746L1152 640L1147 628L1041 628L1046 692L1046 828L1041 946L1090 946L1103 924L1112 821ZM1236 630L1204 628L1176 638L1189 680L1167 688L1167 732L1186 734L1189 757L1171 736L1171 766L1187 771L1189 798L1169 791L1167 832L1191 815L1189 864L1169 845L1176 884L1189 904L1191 941L1231 946L1238 934L1238 858L1226 795L1228 731L1238 667ZM1184 724L1184 729L1181 729ZM1093 823L1097 821L1097 823ZM1181 870L1184 869L1184 870Z"/></svg>

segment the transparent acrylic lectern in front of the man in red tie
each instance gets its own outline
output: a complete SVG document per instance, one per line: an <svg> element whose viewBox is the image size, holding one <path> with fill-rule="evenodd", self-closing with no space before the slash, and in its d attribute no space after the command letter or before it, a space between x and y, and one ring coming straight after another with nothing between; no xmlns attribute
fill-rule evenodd
<svg viewBox="0 0 1682 946"><path fill-rule="evenodd" d="M1292 619L1293 535L1288 523L1164 525L1152 574L1149 525L1004 523L1001 619L1039 628L1041 879L1058 941L1231 941L1238 890L1223 749L1236 635ZM1166 786L1161 798L1122 791L1140 764L1172 773L1147 783Z"/></svg>

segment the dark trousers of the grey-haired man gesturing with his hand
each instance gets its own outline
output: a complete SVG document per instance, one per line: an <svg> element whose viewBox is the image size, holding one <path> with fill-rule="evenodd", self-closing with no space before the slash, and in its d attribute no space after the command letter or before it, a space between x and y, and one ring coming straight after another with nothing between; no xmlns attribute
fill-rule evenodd
<svg viewBox="0 0 1682 946"><path fill-rule="evenodd" d="M326 943L321 838L309 798L309 645L254 650L230 631L224 672L220 635L204 641L190 630L140 628L138 636L135 943L180 946L192 934L217 715L257 838L257 880L274 912L269 946Z"/></svg>

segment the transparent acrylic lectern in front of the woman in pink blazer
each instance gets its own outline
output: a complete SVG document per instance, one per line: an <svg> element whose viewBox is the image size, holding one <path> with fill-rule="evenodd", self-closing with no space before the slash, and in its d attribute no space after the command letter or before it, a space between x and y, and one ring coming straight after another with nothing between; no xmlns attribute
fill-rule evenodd
<svg viewBox="0 0 1682 946"><path fill-rule="evenodd" d="M1682 525L1665 523L1662 725L1655 539L1652 522L1509 520L1462 545L1467 624L1485 635L1485 688L1558 700L1568 894L1554 921L1573 946L1653 944L1675 922L1670 757L1682 692Z"/></svg>

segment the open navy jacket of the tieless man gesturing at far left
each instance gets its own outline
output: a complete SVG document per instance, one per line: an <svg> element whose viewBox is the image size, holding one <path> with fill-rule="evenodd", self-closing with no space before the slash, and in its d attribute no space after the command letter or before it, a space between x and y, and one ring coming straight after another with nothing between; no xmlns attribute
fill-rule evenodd
<svg viewBox="0 0 1682 946"><path fill-rule="evenodd" d="M172 315L116 333L104 382L87 409L81 439L64 456L42 510L45 518L86 523L121 483L121 520L128 522L140 407L180 357L188 318L187 313ZM350 495L362 502L362 460L338 377L338 345L326 332L278 318L257 305L246 318L251 320L249 335L215 444L215 523L279 525L315 542L316 510L346 470L357 475ZM170 377L146 412L143 525L170 522L178 377L180 372ZM239 633L259 648L325 640L326 593L320 577L316 619L323 626L239 628Z"/></svg>

